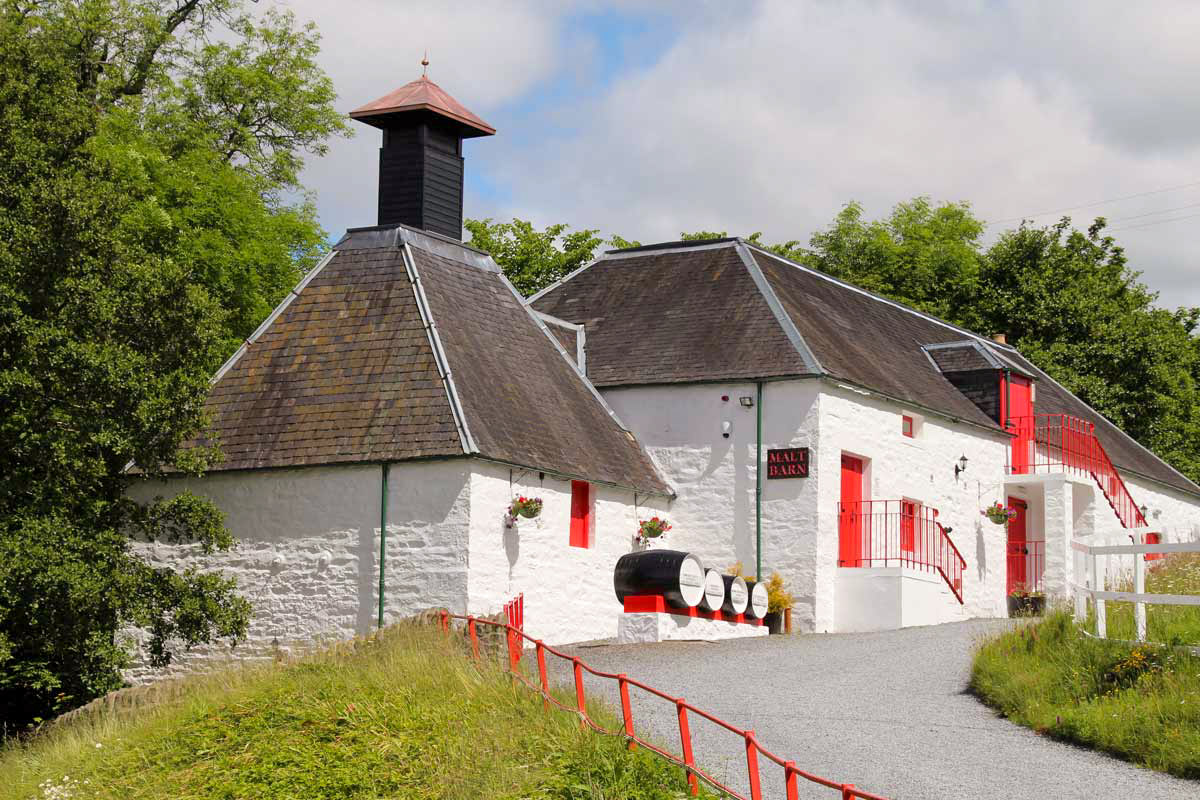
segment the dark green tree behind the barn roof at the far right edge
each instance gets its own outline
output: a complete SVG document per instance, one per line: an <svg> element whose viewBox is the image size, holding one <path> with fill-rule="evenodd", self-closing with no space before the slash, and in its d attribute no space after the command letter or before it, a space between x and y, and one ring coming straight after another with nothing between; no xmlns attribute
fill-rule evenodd
<svg viewBox="0 0 1200 800"><path fill-rule="evenodd" d="M1124 251L1070 219L1000 236L980 272L978 313L1134 439L1200 480L1200 309L1157 308Z"/></svg>

